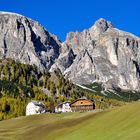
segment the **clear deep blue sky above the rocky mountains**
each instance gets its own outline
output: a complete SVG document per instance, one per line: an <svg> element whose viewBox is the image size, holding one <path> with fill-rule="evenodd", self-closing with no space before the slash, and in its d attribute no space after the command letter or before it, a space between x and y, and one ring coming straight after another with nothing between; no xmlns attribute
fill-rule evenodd
<svg viewBox="0 0 140 140"><path fill-rule="evenodd" d="M62 41L68 32L89 28L101 17L140 36L139 0L1 0L0 11L37 20Z"/></svg>

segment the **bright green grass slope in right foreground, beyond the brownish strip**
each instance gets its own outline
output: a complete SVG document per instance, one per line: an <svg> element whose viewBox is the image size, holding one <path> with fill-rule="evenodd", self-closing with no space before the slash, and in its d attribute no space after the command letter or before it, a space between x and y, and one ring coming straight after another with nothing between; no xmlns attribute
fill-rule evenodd
<svg viewBox="0 0 140 140"><path fill-rule="evenodd" d="M96 115L76 126L63 140L139 140L140 103L130 104Z"/></svg>

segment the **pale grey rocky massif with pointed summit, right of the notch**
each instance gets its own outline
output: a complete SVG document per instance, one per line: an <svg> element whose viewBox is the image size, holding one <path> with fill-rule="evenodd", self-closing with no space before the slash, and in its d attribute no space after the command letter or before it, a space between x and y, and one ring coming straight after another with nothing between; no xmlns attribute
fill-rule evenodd
<svg viewBox="0 0 140 140"><path fill-rule="evenodd" d="M65 45L76 55L64 71L78 84L101 82L105 88L140 90L140 39L99 19L83 32L68 34Z"/></svg>

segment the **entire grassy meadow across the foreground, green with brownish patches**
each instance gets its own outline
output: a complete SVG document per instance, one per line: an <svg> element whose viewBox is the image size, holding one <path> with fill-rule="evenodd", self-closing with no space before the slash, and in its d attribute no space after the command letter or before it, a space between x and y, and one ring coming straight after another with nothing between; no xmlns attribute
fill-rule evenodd
<svg viewBox="0 0 140 140"><path fill-rule="evenodd" d="M48 114L0 122L0 140L139 140L140 102L101 113Z"/></svg>

